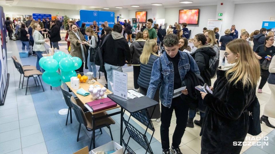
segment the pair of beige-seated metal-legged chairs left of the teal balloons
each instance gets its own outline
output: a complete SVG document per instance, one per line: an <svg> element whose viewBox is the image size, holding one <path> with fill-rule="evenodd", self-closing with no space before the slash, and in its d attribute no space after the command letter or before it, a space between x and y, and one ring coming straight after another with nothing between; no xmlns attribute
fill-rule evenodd
<svg viewBox="0 0 275 154"><path fill-rule="evenodd" d="M21 77L22 77L22 75L23 75L22 89L23 89L23 84L24 84L24 77L28 78L28 80L27 80L26 94L25 95L27 95L29 78L31 78L31 77L34 78L35 84L36 84L36 81L37 81L38 86L40 86L40 85L39 85L37 77L39 78L41 86L42 86L42 89L43 89L43 92L44 92L44 88L43 88L43 85L42 85L42 82L41 82L41 79L40 79L40 75L42 75L42 73L39 70L36 70L36 66L30 66L30 65L24 65L24 66L22 66L15 56L11 56L11 58L13 60L15 68L21 74L20 75L20 81L19 81L19 88L20 88L20 83L21 83ZM36 86L37 86L37 84L36 84Z"/></svg>

